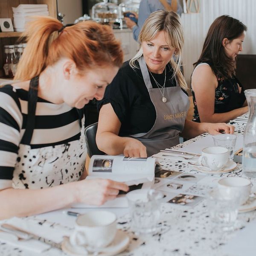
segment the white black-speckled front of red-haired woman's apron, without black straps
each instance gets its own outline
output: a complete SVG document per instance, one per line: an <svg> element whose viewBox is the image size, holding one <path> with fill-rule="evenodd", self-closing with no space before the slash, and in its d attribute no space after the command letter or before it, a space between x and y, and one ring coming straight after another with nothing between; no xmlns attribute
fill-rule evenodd
<svg viewBox="0 0 256 256"><path fill-rule="evenodd" d="M19 147L12 179L15 189L43 189L69 183L79 180L84 171L84 126L76 141L35 149L23 144Z"/></svg>

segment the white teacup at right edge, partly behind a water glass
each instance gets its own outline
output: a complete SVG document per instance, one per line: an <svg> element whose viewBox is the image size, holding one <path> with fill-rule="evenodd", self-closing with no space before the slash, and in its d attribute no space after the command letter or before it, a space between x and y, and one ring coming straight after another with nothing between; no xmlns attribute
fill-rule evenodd
<svg viewBox="0 0 256 256"><path fill-rule="evenodd" d="M242 177L226 177L218 181L218 189L224 198L232 198L238 195L240 205L249 199L252 183L249 179Z"/></svg>

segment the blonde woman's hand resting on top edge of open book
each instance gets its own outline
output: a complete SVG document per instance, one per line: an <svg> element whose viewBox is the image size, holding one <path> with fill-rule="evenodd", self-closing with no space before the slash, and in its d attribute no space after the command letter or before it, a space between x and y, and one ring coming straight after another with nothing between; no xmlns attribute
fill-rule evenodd
<svg viewBox="0 0 256 256"><path fill-rule="evenodd" d="M147 148L139 140L127 139L124 148L125 157L147 157Z"/></svg>

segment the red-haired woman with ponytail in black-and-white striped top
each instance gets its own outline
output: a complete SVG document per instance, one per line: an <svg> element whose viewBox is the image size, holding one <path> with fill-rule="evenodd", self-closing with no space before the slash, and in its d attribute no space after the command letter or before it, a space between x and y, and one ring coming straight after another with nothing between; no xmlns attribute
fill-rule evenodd
<svg viewBox="0 0 256 256"><path fill-rule="evenodd" d="M111 180L79 180L86 158L82 108L102 99L122 64L111 27L65 27L38 17L24 36L19 82L0 88L0 219L100 205L127 191Z"/></svg>

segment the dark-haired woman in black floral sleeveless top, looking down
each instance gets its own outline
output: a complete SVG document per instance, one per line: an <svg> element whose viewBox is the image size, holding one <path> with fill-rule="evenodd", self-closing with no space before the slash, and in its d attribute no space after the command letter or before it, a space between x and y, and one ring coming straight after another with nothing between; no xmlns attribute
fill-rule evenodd
<svg viewBox="0 0 256 256"><path fill-rule="evenodd" d="M241 21L227 15L210 26L191 77L193 121L229 122L248 111L244 89L235 76L246 30Z"/></svg>

